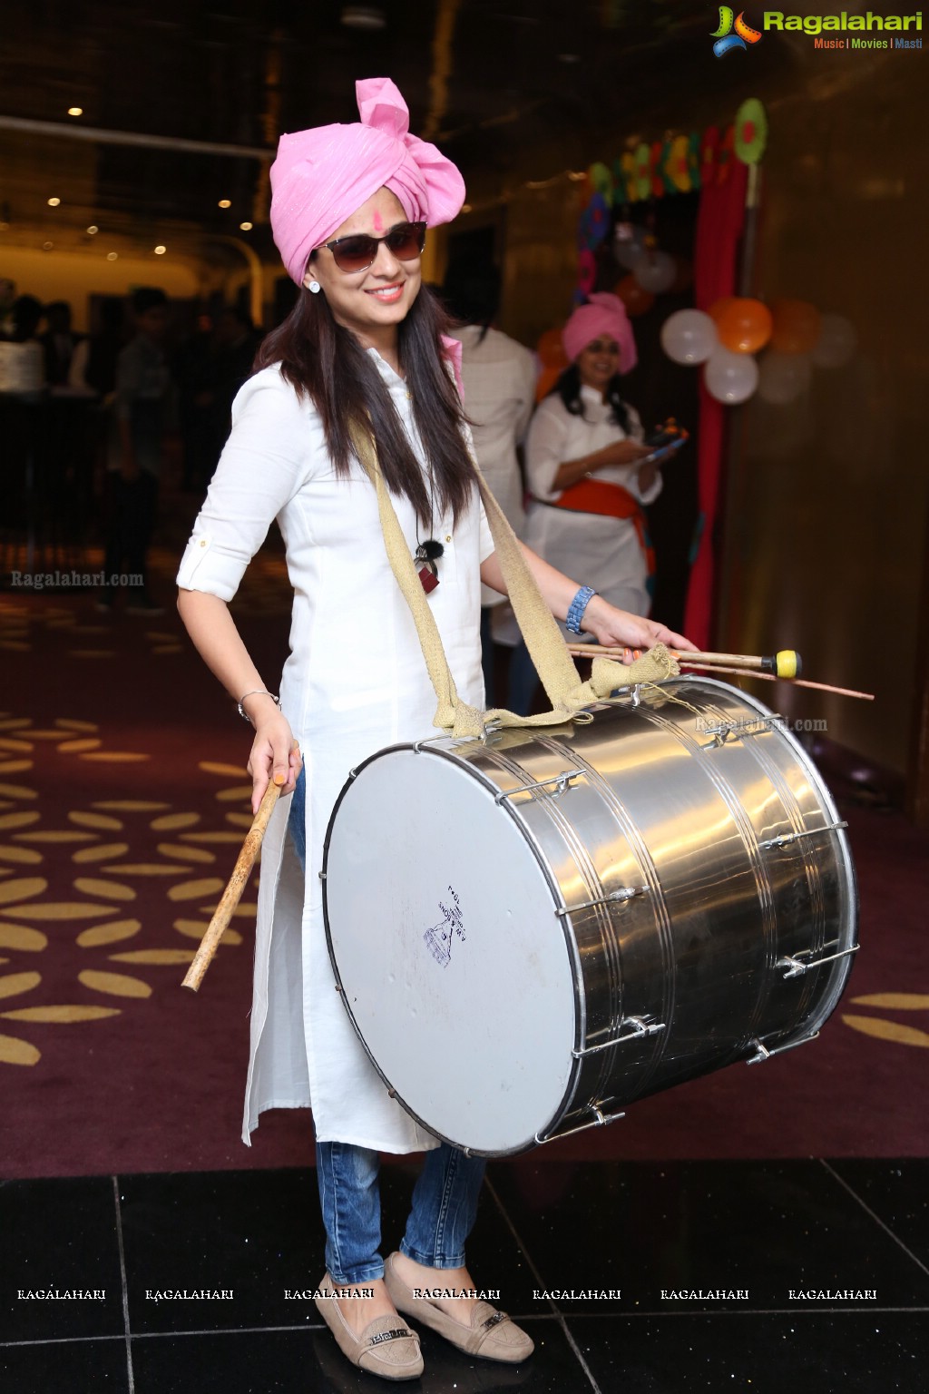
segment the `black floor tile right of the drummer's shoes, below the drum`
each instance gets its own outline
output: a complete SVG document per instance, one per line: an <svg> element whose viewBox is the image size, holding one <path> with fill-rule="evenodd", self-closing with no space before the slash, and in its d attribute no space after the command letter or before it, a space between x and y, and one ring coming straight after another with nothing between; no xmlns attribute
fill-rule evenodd
<svg viewBox="0 0 929 1394"><path fill-rule="evenodd" d="M699 1299L662 1294L701 1291L748 1292L712 1299L713 1310L776 1310L791 1289L868 1289L880 1306L929 1308L929 1274L818 1161L603 1165L528 1154L494 1168L492 1185L543 1289L621 1292L570 1299L565 1310L692 1310Z"/></svg>

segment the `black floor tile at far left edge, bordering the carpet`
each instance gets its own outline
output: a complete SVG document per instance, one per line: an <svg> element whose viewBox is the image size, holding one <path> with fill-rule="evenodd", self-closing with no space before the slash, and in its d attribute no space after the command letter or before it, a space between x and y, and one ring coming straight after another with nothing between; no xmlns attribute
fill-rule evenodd
<svg viewBox="0 0 929 1394"><path fill-rule="evenodd" d="M110 1177L0 1182L0 1344L125 1334Z"/></svg>

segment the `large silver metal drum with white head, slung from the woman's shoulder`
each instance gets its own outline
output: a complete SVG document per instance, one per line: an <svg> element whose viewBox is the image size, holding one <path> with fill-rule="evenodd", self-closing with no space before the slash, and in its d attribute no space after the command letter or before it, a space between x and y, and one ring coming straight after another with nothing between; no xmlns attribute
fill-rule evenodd
<svg viewBox="0 0 929 1394"><path fill-rule="evenodd" d="M329 824L337 986L430 1132L522 1151L819 1032L857 947L843 829L779 718L703 677L394 746Z"/></svg>

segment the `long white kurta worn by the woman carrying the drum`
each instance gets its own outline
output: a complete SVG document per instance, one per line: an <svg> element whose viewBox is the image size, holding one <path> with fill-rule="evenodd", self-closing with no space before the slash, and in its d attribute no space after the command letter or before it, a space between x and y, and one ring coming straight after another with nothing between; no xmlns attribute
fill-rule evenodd
<svg viewBox="0 0 929 1394"><path fill-rule="evenodd" d="M405 383L369 353L425 467ZM414 510L405 499L393 502L415 551ZM316 408L297 397L277 367L251 378L235 399L233 432L178 585L231 599L274 519L294 587L280 697L306 768L306 877L286 835L284 799L262 852L244 1140L265 1108L312 1105L319 1140L416 1151L436 1139L389 1097L334 990L319 871L348 771L394 742L437 735L436 696L390 570L375 489L358 464L351 478L336 477ZM421 527L419 537L426 535ZM482 707L479 566L493 541L476 492L458 524L436 520L433 535L444 552L429 604L460 696Z"/></svg>

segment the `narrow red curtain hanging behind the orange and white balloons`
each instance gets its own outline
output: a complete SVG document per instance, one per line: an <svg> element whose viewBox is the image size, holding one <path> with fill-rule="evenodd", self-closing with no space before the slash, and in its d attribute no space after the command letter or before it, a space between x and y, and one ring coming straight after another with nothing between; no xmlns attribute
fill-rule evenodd
<svg viewBox="0 0 929 1394"><path fill-rule="evenodd" d="M745 222L748 166L733 156L731 130L723 141L705 135L701 204L694 251L694 300L709 309L716 300L735 294L738 244ZM713 592L717 558L716 516L723 474L726 411L710 397L701 375L699 438L696 454L699 519L691 579L684 612L684 633L698 648L709 648L713 629Z"/></svg>

